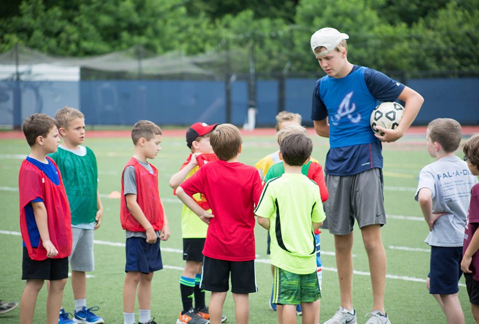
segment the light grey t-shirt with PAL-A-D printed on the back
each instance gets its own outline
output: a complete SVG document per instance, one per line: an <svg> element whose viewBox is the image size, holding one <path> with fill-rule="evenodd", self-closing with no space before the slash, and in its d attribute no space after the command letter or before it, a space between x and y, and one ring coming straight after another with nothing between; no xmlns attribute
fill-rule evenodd
<svg viewBox="0 0 479 324"><path fill-rule="evenodd" d="M418 200L420 189L428 188L432 192L433 213L446 213L434 223L424 242L432 246L463 246L471 188L476 183L478 179L467 163L457 156L441 158L423 167L415 199Z"/></svg>

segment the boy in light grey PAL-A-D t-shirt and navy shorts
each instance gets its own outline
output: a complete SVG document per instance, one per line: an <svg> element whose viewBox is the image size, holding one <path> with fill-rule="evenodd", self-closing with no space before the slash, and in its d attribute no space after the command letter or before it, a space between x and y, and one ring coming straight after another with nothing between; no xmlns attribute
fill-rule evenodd
<svg viewBox="0 0 479 324"><path fill-rule="evenodd" d="M419 174L415 199L428 224L425 242L431 246L431 267L426 281L448 323L464 323L459 302L464 227L471 188L478 183L466 162L455 155L461 143L461 125L438 118L428 125L427 150L436 162Z"/></svg>

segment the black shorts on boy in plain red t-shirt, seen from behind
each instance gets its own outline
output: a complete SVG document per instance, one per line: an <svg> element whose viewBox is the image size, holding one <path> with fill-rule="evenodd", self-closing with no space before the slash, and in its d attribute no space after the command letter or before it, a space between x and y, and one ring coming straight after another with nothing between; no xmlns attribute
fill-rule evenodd
<svg viewBox="0 0 479 324"><path fill-rule="evenodd" d="M201 289L227 292L230 290L230 273L232 293L249 294L258 291L254 260L226 261L209 257L205 257L203 261Z"/></svg>

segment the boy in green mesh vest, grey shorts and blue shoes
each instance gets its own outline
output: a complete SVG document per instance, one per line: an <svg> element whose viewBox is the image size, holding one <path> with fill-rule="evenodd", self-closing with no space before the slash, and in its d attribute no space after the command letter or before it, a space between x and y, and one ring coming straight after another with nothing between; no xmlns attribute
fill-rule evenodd
<svg viewBox="0 0 479 324"><path fill-rule="evenodd" d="M96 157L90 148L82 146L85 139L85 117L79 110L64 107L56 112L55 119L63 143L49 157L56 162L63 174L70 204L73 245L68 260L75 299L75 322L69 320L68 313L62 312L58 323L104 323L101 317L92 312L98 310L97 306L86 307L86 272L93 271L95 267L93 232L100 227L103 216L98 193Z"/></svg>

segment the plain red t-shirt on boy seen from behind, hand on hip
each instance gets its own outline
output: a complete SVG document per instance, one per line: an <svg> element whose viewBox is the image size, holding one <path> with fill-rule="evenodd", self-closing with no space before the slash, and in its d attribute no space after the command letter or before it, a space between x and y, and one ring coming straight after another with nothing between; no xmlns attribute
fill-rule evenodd
<svg viewBox="0 0 479 324"><path fill-rule="evenodd" d="M180 186L190 197L204 194L215 216L203 254L227 261L254 260L254 205L262 189L256 168L240 162L210 162Z"/></svg>

